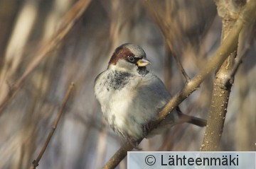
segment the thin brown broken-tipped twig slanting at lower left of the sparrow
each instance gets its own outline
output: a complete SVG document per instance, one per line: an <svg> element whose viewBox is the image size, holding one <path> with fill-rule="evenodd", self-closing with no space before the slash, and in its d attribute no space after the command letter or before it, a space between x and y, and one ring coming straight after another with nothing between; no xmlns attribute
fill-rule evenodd
<svg viewBox="0 0 256 169"><path fill-rule="evenodd" d="M70 98L70 93L71 93L71 91L73 91L74 86L75 85L72 82L70 84L69 88L68 88L67 93L65 94L65 97L63 99L63 103L62 103L62 105L60 107L60 110L58 111L57 117L55 118L55 120L53 122L53 127L50 129L50 133L48 134L46 142L45 142L45 144L43 144L43 147L42 147L40 153L38 154L38 157L36 158L36 160L33 161L32 165L30 167L31 169L35 169L38 166L38 163L41 160L41 158L43 156L43 153L46 151L46 148L47 148L47 146L48 146L48 144L50 142L50 139L52 138L52 136L53 136L53 134L55 132L55 129L56 129L57 125L58 125L58 122L60 121L60 117L63 114L64 107L65 107L65 105L66 105L66 103L68 101L68 98Z"/></svg>

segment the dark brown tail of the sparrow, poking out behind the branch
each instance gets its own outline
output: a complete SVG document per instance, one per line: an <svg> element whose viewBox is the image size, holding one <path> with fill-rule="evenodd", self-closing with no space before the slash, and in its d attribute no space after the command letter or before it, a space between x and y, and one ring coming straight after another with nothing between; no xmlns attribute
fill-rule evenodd
<svg viewBox="0 0 256 169"><path fill-rule="evenodd" d="M176 110L177 110L178 117L179 117L178 123L188 122L191 124L195 124L198 127L206 127L207 120L204 120L204 119L201 119L198 117L193 117L190 115L185 115L181 112L181 110L179 110L178 107Z"/></svg>

